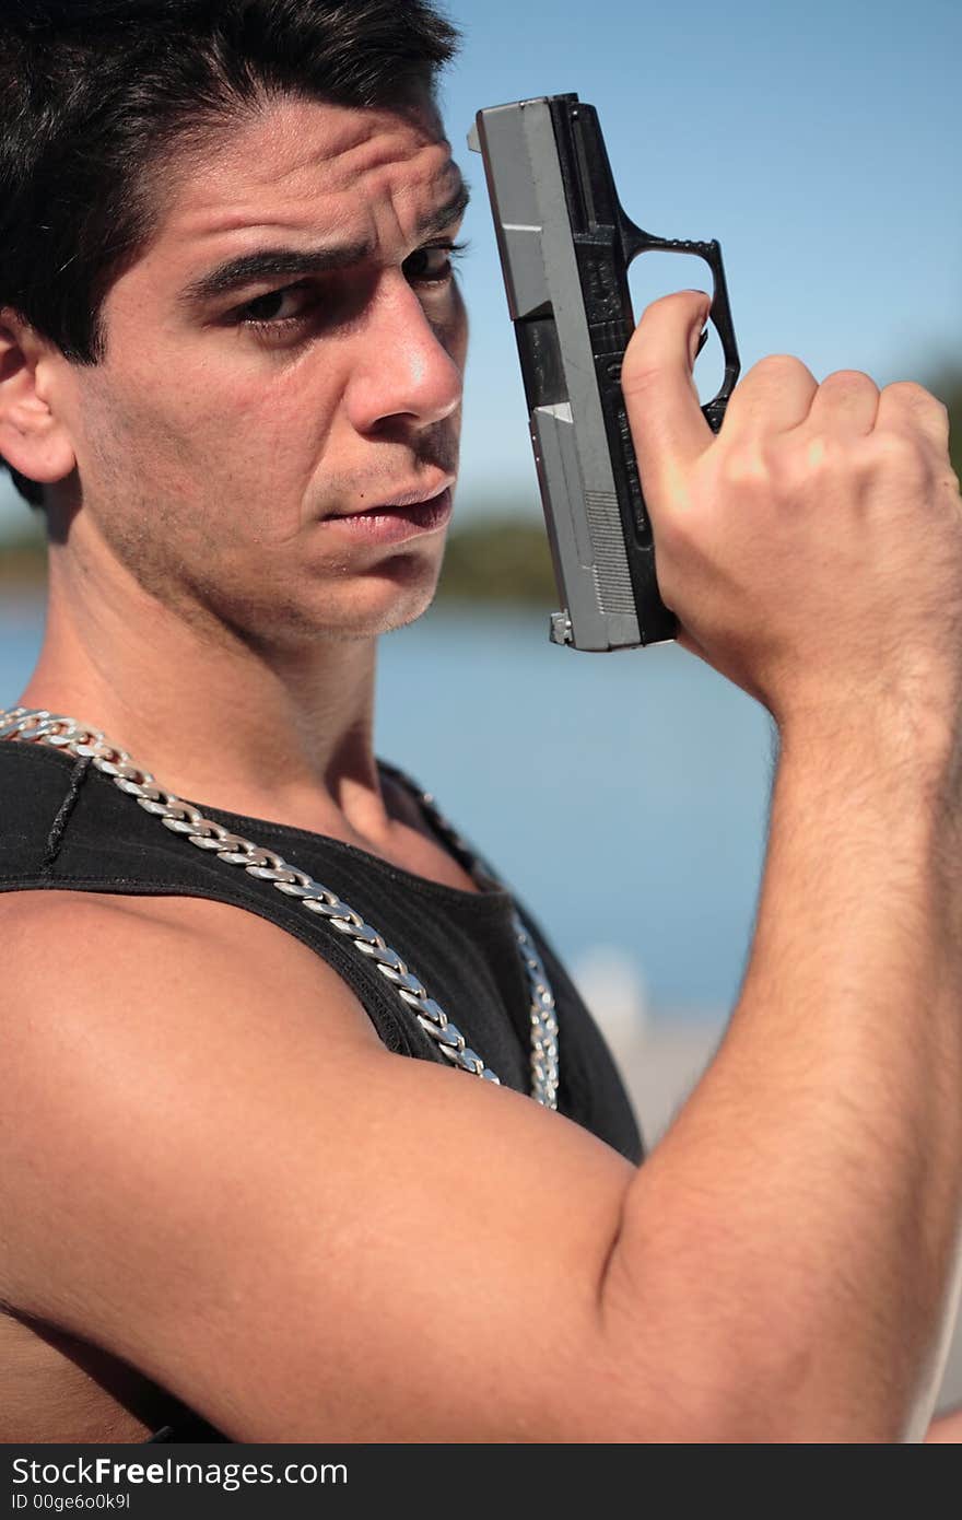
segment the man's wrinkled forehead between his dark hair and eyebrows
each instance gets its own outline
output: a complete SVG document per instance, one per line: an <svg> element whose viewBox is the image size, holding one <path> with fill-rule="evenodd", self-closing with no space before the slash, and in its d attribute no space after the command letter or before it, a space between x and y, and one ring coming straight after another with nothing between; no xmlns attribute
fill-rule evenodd
<svg viewBox="0 0 962 1520"><path fill-rule="evenodd" d="M348 108L278 99L175 154L163 172L155 251L243 251L264 231L378 242L445 204L460 184L430 105Z"/></svg>

